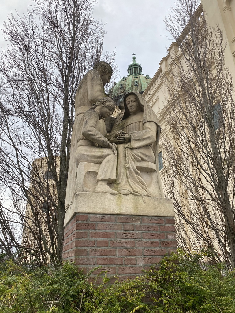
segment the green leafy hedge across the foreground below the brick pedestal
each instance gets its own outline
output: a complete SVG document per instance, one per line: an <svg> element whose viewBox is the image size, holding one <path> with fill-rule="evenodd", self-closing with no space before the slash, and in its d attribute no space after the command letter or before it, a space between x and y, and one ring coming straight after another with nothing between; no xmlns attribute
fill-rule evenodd
<svg viewBox="0 0 235 313"><path fill-rule="evenodd" d="M135 280L94 285L66 262L58 269L28 270L0 264L0 312L4 313L234 313L235 272L224 264L202 266L199 254L165 257Z"/></svg>

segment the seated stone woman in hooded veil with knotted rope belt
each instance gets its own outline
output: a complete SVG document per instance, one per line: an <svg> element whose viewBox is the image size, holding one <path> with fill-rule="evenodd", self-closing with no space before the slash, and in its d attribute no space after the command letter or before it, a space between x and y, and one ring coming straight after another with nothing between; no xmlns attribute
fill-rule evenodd
<svg viewBox="0 0 235 313"><path fill-rule="evenodd" d="M122 122L112 130L109 141L117 144L117 179L113 189L123 195L162 197L158 166L154 173L138 170L138 162L156 164L160 126L158 119L146 100L136 92L124 97L125 112ZM148 170L146 170L148 172ZM148 177L147 177L148 178ZM153 183L155 187L153 187ZM151 185L151 186L150 186ZM154 188L157 188L156 192Z"/></svg>

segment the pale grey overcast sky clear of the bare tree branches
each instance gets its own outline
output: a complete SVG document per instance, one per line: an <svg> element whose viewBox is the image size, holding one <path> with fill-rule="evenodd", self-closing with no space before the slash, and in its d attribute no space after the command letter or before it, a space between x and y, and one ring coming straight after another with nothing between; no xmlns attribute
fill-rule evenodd
<svg viewBox="0 0 235 313"><path fill-rule="evenodd" d="M104 50L116 48L116 64L120 77L127 76L128 64L132 62L133 53L142 65L143 74L153 77L159 68L160 60L166 56L166 47L172 40L168 39L164 17L169 14L170 6L175 0L97 0L94 17L100 18L107 31ZM15 10L20 15L27 13L30 0L1 0L0 28L7 15ZM0 33L0 47L5 47L3 34Z"/></svg>

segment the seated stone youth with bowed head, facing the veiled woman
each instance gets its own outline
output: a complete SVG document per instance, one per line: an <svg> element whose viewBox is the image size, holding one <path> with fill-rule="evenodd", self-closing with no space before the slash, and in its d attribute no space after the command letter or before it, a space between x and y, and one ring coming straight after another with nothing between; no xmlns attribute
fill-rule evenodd
<svg viewBox="0 0 235 313"><path fill-rule="evenodd" d="M81 119L78 133L78 147L75 153L76 167L80 162L100 164L97 174L97 187L94 192L107 192L117 195L108 184L116 181L116 144L106 138L105 127L101 129L99 120L109 117L115 109L112 99L105 97L87 110Z"/></svg>

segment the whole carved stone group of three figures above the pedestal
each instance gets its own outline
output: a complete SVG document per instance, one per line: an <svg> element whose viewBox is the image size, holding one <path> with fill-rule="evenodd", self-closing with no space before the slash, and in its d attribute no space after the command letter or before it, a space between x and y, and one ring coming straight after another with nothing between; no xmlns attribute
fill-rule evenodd
<svg viewBox="0 0 235 313"><path fill-rule="evenodd" d="M111 76L112 67L101 61L85 74L76 91L67 207L76 192L84 191L132 194L143 200L163 197L158 169L160 126L142 95L124 96L123 117L117 116L107 134L105 119L115 105L105 95L104 85Z"/></svg>

